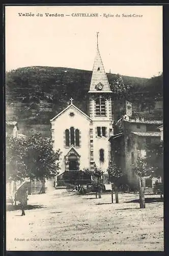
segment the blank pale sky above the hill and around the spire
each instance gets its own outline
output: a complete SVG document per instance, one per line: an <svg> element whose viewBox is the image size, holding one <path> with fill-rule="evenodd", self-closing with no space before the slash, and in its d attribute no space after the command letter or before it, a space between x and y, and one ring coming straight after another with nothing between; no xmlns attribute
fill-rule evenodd
<svg viewBox="0 0 169 256"><path fill-rule="evenodd" d="M92 70L96 32L107 73L149 78L162 71L161 6L8 6L5 23L6 71L29 66Z"/></svg>

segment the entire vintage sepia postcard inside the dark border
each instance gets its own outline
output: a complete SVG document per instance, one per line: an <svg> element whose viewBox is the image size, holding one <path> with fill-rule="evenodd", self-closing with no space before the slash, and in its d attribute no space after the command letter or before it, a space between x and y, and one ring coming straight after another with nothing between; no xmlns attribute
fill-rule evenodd
<svg viewBox="0 0 169 256"><path fill-rule="evenodd" d="M7 251L163 251L162 37L162 6L5 7Z"/></svg>

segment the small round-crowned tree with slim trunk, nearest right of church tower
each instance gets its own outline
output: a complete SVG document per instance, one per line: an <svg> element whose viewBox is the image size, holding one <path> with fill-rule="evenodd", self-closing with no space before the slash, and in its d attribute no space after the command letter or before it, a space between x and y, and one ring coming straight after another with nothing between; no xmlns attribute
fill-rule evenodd
<svg viewBox="0 0 169 256"><path fill-rule="evenodd" d="M111 182L111 202L113 203L113 188L115 188L116 193L116 203L119 203L119 197L118 197L118 181L122 177L122 170L121 168L115 164L111 163L108 168L108 177Z"/></svg>

